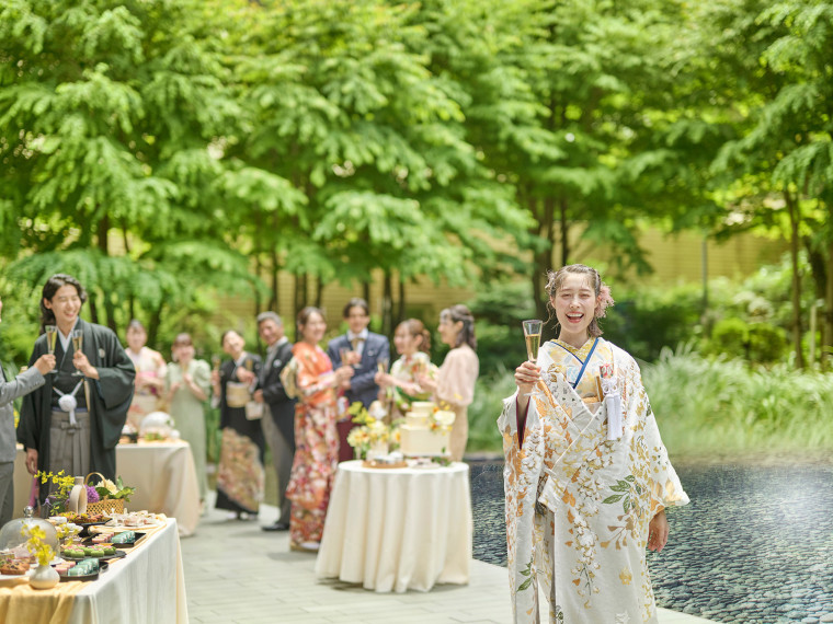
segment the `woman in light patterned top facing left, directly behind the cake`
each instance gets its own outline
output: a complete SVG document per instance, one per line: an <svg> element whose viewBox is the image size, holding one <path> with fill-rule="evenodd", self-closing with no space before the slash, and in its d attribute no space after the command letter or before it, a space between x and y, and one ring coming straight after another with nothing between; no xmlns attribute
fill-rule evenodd
<svg viewBox="0 0 833 624"><path fill-rule="evenodd" d="M414 401L427 401L431 392L424 390L416 380L418 374L436 378L437 368L431 363L431 333L419 319L408 319L397 325L393 346L400 358L390 367L390 372L380 370L375 381L381 388L379 398L392 406L391 420L404 416Z"/></svg>

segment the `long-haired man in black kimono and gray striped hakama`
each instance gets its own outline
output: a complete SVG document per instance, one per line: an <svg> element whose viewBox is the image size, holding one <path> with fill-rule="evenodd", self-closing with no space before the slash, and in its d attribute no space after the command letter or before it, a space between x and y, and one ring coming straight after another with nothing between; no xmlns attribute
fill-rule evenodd
<svg viewBox="0 0 833 624"><path fill-rule="evenodd" d="M116 444L134 389L134 369L115 333L79 316L87 291L69 275L52 276L41 298L42 335L30 367L52 353L57 366L46 383L27 394L21 407L18 441L26 448L26 469L84 476L99 472L116 478ZM42 488L43 489L43 488ZM42 495L46 492L42 490Z"/></svg>

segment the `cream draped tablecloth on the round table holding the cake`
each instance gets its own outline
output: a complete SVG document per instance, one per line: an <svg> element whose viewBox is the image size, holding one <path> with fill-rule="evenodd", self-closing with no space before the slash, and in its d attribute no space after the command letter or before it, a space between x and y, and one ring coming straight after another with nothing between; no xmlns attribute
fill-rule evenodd
<svg viewBox="0 0 833 624"><path fill-rule="evenodd" d="M468 466L366 469L339 464L316 562L319 578L379 592L467 583L471 561Z"/></svg>

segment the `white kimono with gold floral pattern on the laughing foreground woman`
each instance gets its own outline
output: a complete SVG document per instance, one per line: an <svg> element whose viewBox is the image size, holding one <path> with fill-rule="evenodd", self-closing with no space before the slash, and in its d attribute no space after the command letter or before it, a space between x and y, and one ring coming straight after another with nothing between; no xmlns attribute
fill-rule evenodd
<svg viewBox="0 0 833 624"><path fill-rule="evenodd" d="M648 523L688 497L669 462L639 368L602 338L580 349L550 340L538 365L545 382L530 397L521 446L516 395L504 401L498 420L515 622L539 622L538 585L550 622L657 622ZM608 435L617 392L623 427Z"/></svg>

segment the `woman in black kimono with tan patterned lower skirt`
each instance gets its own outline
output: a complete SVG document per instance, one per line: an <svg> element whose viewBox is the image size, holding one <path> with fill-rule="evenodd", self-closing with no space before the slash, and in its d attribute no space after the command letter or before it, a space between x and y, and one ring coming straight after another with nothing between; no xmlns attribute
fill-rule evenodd
<svg viewBox="0 0 833 624"><path fill-rule="evenodd" d="M232 511L238 520L253 520L263 500L265 440L260 421L246 417L246 404L258 381L260 357L246 350L246 340L233 330L222 334L220 344L231 359L212 372L222 431L216 507Z"/></svg>

